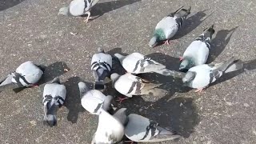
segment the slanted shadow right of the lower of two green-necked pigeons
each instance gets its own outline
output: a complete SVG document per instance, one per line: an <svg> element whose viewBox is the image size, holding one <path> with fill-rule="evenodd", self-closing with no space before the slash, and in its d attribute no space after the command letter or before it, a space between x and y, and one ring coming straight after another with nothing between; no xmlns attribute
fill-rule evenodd
<svg viewBox="0 0 256 144"><path fill-rule="evenodd" d="M238 26L234 27L231 30L219 30L215 38L211 42L210 55L207 60L207 63L214 62L215 58L225 49L226 45L230 42L231 36L234 34L234 31Z"/></svg>

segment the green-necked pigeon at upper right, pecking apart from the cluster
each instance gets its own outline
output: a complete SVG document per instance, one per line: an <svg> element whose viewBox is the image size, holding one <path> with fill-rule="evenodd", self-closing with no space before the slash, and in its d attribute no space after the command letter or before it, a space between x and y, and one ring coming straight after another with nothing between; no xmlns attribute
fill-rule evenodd
<svg viewBox="0 0 256 144"><path fill-rule="evenodd" d="M183 6L182 6L183 7ZM180 7L174 13L167 15L158 22L154 29L154 36L150 39L149 45L154 47L158 42L166 41L165 44L169 45L170 38L181 28L183 21L186 19L187 15L190 14L191 6L189 9L182 9Z"/></svg>

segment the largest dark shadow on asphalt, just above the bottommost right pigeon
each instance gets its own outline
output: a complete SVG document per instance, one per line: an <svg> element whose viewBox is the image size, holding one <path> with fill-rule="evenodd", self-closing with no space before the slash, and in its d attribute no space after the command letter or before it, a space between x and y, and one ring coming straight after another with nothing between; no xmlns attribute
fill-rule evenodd
<svg viewBox="0 0 256 144"><path fill-rule="evenodd" d="M127 114L140 114L158 122L159 126L174 130L184 138L189 138L200 122L193 98L172 98L171 94L167 94L156 102L146 102L139 96L127 101L130 102L124 102L120 106L128 108Z"/></svg>

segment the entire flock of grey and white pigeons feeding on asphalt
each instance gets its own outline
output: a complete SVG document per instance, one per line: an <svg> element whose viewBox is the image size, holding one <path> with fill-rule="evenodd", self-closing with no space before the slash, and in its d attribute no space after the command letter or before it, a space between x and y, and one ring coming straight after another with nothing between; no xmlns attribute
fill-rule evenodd
<svg viewBox="0 0 256 144"><path fill-rule="evenodd" d="M59 14L81 16L88 14L86 22L90 19L90 9L98 0L74 0L70 6L63 7ZM183 6L182 6L183 7ZM154 36L150 39L150 46L157 46L165 42L169 44L170 38L181 28L187 15L190 14L191 7L188 9L179 8L174 13L167 15L158 22L154 30ZM226 62L206 64L210 53L210 42L214 34L214 25L203 30L202 34L195 38L187 47L182 58L180 58L180 71L168 70L166 66L146 58L143 54L133 53L127 56L122 54L106 54L104 50L98 49L91 59L91 70L95 82L94 90L90 90L85 82L79 82L81 104L90 114L98 115L98 128L94 134L91 143L111 144L122 141L124 135L131 142L162 142L174 138L179 138L173 130L162 128L157 122L138 114L126 115L126 108L115 110L114 114L109 111L114 109L112 104L114 97L102 94L105 89L105 79L111 78L112 86L126 98L132 98L134 95L148 94L149 90L160 86L148 82L138 77L138 74L158 73L165 76L174 76L182 78L182 82L191 88L201 92L210 83L215 82L222 74L242 69L243 63L235 58L230 58ZM112 74L112 60L118 60L126 70L126 74ZM36 83L42 78L43 67L33 62L24 62L22 65L10 73L1 81L0 91L6 89L15 89L20 87L37 86ZM119 98L122 102L126 98ZM66 99L66 86L59 78L44 86L43 105L44 105L44 123L50 126L57 124L57 110L62 106Z"/></svg>

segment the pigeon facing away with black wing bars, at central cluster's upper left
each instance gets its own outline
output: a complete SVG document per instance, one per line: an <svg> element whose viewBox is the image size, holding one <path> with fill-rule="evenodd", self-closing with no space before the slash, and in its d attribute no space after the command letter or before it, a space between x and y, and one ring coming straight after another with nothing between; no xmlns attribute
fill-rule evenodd
<svg viewBox="0 0 256 144"><path fill-rule="evenodd" d="M104 89L104 80L107 76L110 76L110 71L112 69L111 55L105 54L104 50L98 48L98 53L93 55L90 65L95 78L94 89Z"/></svg>

